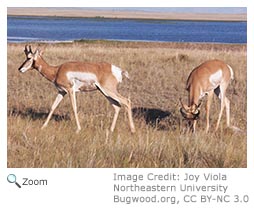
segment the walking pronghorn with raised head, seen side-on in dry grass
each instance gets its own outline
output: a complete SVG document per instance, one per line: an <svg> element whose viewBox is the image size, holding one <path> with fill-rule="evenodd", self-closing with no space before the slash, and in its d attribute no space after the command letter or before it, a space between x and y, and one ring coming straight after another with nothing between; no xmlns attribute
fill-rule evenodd
<svg viewBox="0 0 254 210"><path fill-rule="evenodd" d="M33 53L31 46L29 48L25 46L24 52L26 60L19 67L19 71L24 73L34 68L43 77L54 83L58 90L58 95L42 128L48 125L54 110L68 93L76 119L77 132L79 132L81 126L77 114L76 92L100 90L115 109L110 130L114 131L120 107L124 105L128 112L131 132L135 132L131 102L117 92L117 84L122 82L123 76L128 77L127 71L122 71L120 68L108 63L67 62L59 66L50 66L42 58L40 50L36 49Z"/></svg>

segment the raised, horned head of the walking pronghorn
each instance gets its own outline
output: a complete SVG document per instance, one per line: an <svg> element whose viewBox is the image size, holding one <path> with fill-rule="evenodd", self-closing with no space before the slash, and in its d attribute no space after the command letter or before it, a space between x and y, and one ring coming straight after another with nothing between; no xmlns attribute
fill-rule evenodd
<svg viewBox="0 0 254 210"><path fill-rule="evenodd" d="M19 71L24 73L29 69L34 68L35 61L37 60L38 56L40 55L40 51L36 49L36 51L33 53L31 46L25 46L24 50L26 54L26 60L22 63L22 65L19 67Z"/></svg>

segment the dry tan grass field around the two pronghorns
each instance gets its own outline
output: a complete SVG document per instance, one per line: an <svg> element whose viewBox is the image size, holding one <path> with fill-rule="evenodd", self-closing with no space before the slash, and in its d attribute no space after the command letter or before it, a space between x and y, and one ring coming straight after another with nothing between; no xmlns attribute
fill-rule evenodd
<svg viewBox="0 0 254 210"><path fill-rule="evenodd" d="M105 61L127 70L130 80L124 79L119 92L132 100L137 132L130 133L124 109L115 132L109 132L114 110L98 91L77 94L80 133L75 133L68 96L49 126L41 130L57 90L34 70L19 73L24 44L8 44L8 167L247 166L246 45L90 41L32 46L43 49L45 60L52 65ZM187 101L184 88L189 72L213 58L234 69L235 80L227 96L231 123L241 132L226 128L225 113L219 131L214 132L217 98L211 107L208 135L204 105L195 134L187 132L180 115L179 98Z"/></svg>

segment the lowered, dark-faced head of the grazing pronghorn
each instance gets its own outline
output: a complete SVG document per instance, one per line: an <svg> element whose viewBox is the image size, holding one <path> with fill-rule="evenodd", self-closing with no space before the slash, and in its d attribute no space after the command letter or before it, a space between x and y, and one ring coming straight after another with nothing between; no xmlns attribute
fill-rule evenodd
<svg viewBox="0 0 254 210"><path fill-rule="evenodd" d="M187 106L182 102L182 99L180 98L180 103L182 106L180 108L180 112L185 119L197 120L199 118L201 102L198 105L193 104L191 106Z"/></svg>

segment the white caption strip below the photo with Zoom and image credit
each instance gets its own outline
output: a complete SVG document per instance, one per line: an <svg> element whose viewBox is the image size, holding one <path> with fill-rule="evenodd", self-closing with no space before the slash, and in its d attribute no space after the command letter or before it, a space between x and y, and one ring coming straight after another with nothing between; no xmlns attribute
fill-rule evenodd
<svg viewBox="0 0 254 210"><path fill-rule="evenodd" d="M253 191L248 187L252 176L243 170L247 169L8 169L21 188L4 182L8 190L3 202L8 209L24 205L26 209L253 209Z"/></svg>

